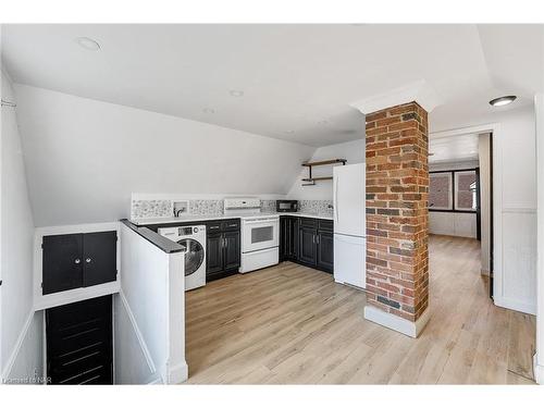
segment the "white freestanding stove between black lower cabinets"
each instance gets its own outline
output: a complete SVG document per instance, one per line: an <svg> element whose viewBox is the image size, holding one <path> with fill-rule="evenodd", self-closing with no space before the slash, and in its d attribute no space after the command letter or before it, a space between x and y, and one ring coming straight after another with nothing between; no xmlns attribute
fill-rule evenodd
<svg viewBox="0 0 544 408"><path fill-rule="evenodd" d="M242 220L240 273L280 261L280 215L261 212L261 201L252 197L225 198L225 215Z"/></svg>

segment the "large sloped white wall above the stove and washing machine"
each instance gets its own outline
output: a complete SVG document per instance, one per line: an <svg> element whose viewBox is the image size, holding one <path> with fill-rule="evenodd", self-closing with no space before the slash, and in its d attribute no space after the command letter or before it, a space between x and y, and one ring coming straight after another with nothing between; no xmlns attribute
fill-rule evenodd
<svg viewBox="0 0 544 408"><path fill-rule="evenodd" d="M316 150L30 86L15 90L37 226L128 217L133 191L284 195Z"/></svg>

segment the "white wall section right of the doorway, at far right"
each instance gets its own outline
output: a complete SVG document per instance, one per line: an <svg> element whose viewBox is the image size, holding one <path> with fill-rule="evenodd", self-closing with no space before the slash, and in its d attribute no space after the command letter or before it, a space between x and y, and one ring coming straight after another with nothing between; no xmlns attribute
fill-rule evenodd
<svg viewBox="0 0 544 408"><path fill-rule="evenodd" d="M493 199L500 209L500 214L494 214L494 299L498 306L533 314L536 313L535 141L533 107L503 115L493 135ZM500 187L495 187L497 184Z"/></svg>

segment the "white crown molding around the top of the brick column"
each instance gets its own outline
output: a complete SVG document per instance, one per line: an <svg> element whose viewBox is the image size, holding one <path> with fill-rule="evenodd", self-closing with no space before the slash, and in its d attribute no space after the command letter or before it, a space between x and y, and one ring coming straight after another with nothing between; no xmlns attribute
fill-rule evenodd
<svg viewBox="0 0 544 408"><path fill-rule="evenodd" d="M401 87L391 89L386 92L374 95L349 106L363 114L381 111L382 109L396 107L398 104L417 102L425 111L431 112L440 103L434 89L424 81L416 81Z"/></svg>

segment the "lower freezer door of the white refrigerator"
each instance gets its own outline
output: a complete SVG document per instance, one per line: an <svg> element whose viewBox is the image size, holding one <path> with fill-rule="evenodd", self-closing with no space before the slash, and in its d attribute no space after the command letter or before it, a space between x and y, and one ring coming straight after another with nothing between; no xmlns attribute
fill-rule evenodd
<svg viewBox="0 0 544 408"><path fill-rule="evenodd" d="M367 239L334 234L334 281L367 287Z"/></svg>

